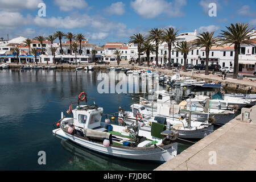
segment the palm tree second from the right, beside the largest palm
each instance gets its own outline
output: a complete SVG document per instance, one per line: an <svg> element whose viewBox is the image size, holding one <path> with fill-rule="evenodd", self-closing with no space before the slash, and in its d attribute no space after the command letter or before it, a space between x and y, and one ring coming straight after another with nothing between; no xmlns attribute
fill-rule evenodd
<svg viewBox="0 0 256 182"><path fill-rule="evenodd" d="M209 53L212 46L216 46L217 38L213 37L214 32L209 33L203 32L197 36L194 45L200 48L205 47L205 56L206 56L206 63L205 63L205 75L209 75L208 67L209 67Z"/></svg>

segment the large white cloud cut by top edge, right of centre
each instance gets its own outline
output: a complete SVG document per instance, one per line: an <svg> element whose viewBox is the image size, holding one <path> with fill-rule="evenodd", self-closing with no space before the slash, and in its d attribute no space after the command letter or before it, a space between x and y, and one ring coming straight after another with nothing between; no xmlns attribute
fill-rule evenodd
<svg viewBox="0 0 256 182"><path fill-rule="evenodd" d="M183 16L181 8L186 5L185 0L174 0L167 2L164 0L135 0L131 1L131 7L136 13L144 18L155 18L160 14L168 16Z"/></svg>

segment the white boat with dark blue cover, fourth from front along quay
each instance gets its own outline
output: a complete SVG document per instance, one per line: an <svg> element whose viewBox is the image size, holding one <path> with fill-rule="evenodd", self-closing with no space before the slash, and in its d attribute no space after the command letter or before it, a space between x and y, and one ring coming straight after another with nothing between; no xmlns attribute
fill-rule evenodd
<svg viewBox="0 0 256 182"><path fill-rule="evenodd" d="M230 110L234 106L237 106L238 109L241 107L245 107L251 104L250 100L236 98L236 97L229 97L224 96L222 92L218 92L210 98L209 96L195 96L195 98L188 98L186 101L188 104L196 105L196 107L203 107L206 100L210 99L210 109L222 109L222 110Z"/></svg>

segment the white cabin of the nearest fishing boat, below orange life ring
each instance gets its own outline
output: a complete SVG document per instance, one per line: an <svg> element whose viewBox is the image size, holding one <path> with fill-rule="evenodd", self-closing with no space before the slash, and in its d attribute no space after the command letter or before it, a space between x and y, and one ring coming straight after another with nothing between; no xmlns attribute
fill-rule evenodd
<svg viewBox="0 0 256 182"><path fill-rule="evenodd" d="M96 105L80 105L72 110L76 130L97 129L101 127L103 108Z"/></svg>

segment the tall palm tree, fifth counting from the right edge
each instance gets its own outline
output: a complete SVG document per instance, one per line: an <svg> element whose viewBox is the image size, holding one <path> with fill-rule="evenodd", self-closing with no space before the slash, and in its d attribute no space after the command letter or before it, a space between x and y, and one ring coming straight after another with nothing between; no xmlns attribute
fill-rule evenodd
<svg viewBox="0 0 256 182"><path fill-rule="evenodd" d="M156 49L156 65L158 65L158 49L159 44L162 42L163 38L163 30L160 28L152 28L151 31L148 32L147 40L155 42L155 49Z"/></svg>

